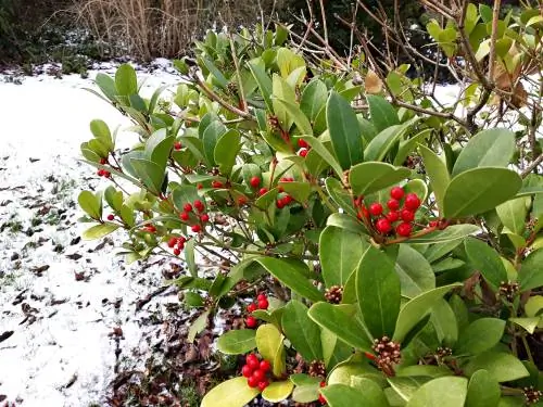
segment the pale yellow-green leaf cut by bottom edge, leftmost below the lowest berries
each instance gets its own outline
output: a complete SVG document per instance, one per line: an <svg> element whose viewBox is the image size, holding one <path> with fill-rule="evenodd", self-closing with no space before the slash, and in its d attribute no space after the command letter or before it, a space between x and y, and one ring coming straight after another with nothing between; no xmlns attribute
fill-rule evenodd
<svg viewBox="0 0 543 407"><path fill-rule="evenodd" d="M202 399L200 407L243 407L260 393L243 377L227 380L213 387Z"/></svg>

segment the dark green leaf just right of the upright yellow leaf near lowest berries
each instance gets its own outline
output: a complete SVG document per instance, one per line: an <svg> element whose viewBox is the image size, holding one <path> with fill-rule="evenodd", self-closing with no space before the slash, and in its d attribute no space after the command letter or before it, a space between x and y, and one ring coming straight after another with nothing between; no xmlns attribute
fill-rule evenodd
<svg viewBox="0 0 543 407"><path fill-rule="evenodd" d="M307 311L301 302L291 300L282 314L282 330L305 360L321 360L320 328L307 316Z"/></svg>

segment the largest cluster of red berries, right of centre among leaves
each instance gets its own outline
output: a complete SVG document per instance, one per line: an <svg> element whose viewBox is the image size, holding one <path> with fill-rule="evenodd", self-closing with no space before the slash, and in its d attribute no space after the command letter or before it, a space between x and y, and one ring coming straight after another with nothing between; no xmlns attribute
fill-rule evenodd
<svg viewBox="0 0 543 407"><path fill-rule="evenodd" d="M403 202L402 202L403 201ZM371 220L377 232L380 234L389 234L395 229L395 233L401 237L409 237L413 232L413 220L415 213L420 207L420 199L416 193L405 193L403 188L394 187L390 191L390 200L384 208L378 202L374 202L366 208L361 207L358 217ZM394 227L394 224L396 226Z"/></svg>

